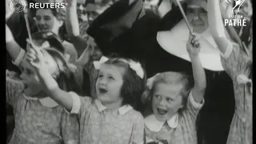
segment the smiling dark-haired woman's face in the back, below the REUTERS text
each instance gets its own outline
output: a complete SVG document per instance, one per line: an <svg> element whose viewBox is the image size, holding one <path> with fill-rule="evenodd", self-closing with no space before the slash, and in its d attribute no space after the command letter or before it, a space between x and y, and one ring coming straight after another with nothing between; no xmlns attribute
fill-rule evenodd
<svg viewBox="0 0 256 144"><path fill-rule="evenodd" d="M35 22L38 30L42 32L54 32L58 34L59 28L63 22L59 21L50 9L38 9L36 12Z"/></svg>

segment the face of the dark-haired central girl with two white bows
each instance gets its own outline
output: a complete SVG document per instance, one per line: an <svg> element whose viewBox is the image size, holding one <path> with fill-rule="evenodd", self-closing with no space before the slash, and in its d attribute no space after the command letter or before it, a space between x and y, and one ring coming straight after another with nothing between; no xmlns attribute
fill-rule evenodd
<svg viewBox="0 0 256 144"><path fill-rule="evenodd" d="M102 103L122 102L121 88L124 72L125 70L121 67L102 64L96 82L97 96Z"/></svg>

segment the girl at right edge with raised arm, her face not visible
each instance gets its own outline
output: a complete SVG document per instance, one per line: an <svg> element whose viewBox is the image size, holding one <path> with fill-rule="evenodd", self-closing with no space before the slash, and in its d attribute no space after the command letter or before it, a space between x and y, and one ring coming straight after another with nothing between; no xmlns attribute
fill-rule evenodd
<svg viewBox="0 0 256 144"><path fill-rule="evenodd" d="M235 111L227 144L251 144L253 61L250 54L244 51L247 48L242 42L234 42L226 37L219 1L208 0L208 15L211 33L222 55L222 66L230 75L234 85ZM252 36L250 33L251 38ZM249 50L252 43L253 39L248 45Z"/></svg>

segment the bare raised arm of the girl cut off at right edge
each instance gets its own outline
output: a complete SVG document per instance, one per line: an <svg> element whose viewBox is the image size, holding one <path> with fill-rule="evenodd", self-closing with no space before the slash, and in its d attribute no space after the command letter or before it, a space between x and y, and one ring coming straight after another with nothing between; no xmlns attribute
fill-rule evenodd
<svg viewBox="0 0 256 144"><path fill-rule="evenodd" d="M232 50L232 42L226 38L225 27L222 21L222 14L218 0L209 0L208 5L208 22L211 34L222 54L226 54L226 50Z"/></svg>

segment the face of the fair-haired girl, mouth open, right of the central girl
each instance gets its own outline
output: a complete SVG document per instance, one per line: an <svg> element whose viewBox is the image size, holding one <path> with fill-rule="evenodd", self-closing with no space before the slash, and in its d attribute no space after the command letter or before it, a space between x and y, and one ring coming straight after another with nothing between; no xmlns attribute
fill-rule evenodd
<svg viewBox="0 0 256 144"><path fill-rule="evenodd" d="M182 84L158 83L154 86L152 108L158 121L168 121L183 107L181 90Z"/></svg>

